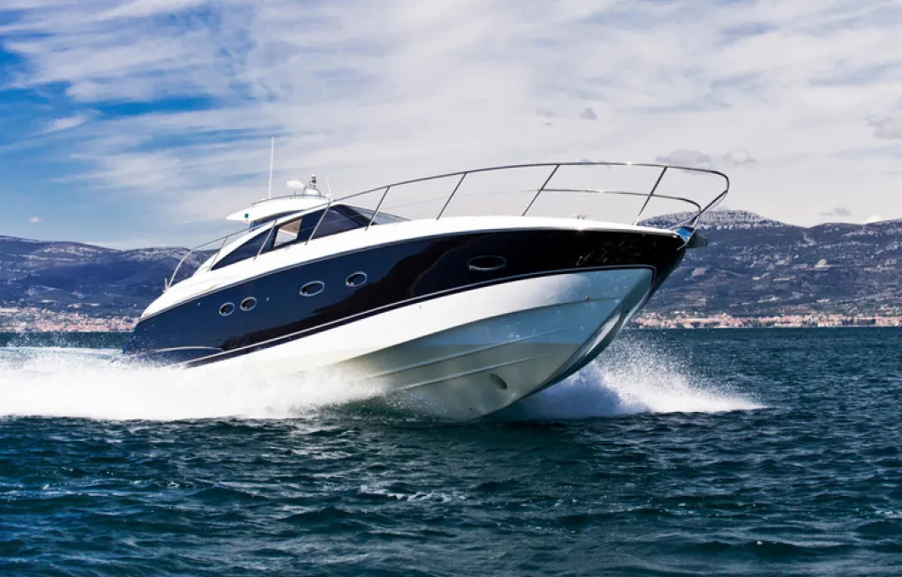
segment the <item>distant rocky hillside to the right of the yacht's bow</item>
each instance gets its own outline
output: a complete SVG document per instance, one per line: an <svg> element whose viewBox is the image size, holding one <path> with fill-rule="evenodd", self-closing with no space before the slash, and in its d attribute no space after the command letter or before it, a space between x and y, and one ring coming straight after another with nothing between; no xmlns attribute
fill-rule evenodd
<svg viewBox="0 0 902 577"><path fill-rule="evenodd" d="M734 316L902 309L902 220L805 228L715 210L701 228L710 246L687 252L649 309Z"/></svg>

